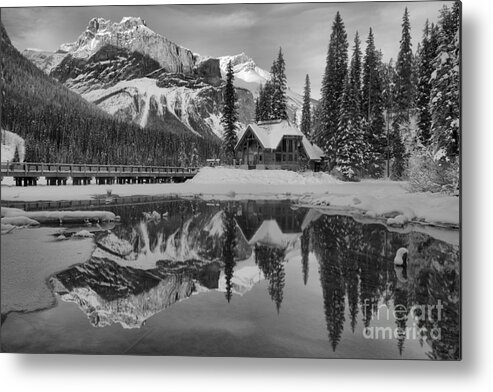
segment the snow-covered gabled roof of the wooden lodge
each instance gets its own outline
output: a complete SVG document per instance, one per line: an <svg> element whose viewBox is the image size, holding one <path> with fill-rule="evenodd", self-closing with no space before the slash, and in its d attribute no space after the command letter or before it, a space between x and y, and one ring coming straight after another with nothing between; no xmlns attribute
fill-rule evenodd
<svg viewBox="0 0 493 392"><path fill-rule="evenodd" d="M249 124L238 137L237 148L250 130L264 149L275 150L279 147L284 136L299 136L302 138L303 148L310 160L321 160L325 154L320 147L311 143L296 125L287 120L259 121Z"/></svg>

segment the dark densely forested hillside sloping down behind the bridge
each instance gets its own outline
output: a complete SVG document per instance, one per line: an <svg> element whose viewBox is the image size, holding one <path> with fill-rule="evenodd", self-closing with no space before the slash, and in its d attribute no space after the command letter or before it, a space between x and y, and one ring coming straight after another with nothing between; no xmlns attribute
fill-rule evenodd
<svg viewBox="0 0 493 392"><path fill-rule="evenodd" d="M26 161L188 165L217 156L217 141L165 127L141 128L103 112L45 75L15 49L0 24L2 129L26 141Z"/></svg>

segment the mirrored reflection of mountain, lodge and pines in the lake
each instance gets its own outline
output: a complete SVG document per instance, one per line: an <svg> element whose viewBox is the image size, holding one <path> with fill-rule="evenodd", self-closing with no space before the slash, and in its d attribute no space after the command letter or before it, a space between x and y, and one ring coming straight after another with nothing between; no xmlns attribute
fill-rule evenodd
<svg viewBox="0 0 493 392"><path fill-rule="evenodd" d="M405 331L419 314L413 306L441 303L440 317L416 320L425 331L420 343L430 347L432 359L460 357L456 246L279 201L192 200L112 210L121 216L121 224L96 236L91 259L51 278L55 292L77 303L93 326L139 328L174 303L210 291L223 292L227 306L235 295L245 295L263 280L273 311L279 313L290 290L286 263L301 259L306 285L309 260L315 258L333 351L345 328L354 333L358 323L371 327L384 306L395 310L387 325ZM144 219L144 212L154 210L167 214ZM393 264L401 247L409 252L406 269ZM434 328L441 331L439 339L430 336ZM401 353L405 340L404 334L396 338Z"/></svg>

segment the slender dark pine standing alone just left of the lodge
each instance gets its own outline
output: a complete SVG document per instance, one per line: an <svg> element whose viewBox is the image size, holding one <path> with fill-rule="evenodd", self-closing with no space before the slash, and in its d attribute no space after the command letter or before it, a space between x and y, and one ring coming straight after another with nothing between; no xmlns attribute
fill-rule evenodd
<svg viewBox="0 0 493 392"><path fill-rule="evenodd" d="M231 61L226 69L226 87L224 88L224 108L221 117L221 123L224 127L223 150L226 157L226 162L233 163L235 146L238 141L236 135L238 121L238 107L236 91L233 85L234 73Z"/></svg>

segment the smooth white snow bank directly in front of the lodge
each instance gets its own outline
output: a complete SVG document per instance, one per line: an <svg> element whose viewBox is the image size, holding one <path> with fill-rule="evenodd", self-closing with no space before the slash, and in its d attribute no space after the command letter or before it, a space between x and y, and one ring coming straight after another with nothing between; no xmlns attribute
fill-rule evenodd
<svg viewBox="0 0 493 392"><path fill-rule="evenodd" d="M327 173L296 173L289 170L243 170L204 167L188 180L191 184L322 185L340 183Z"/></svg>

